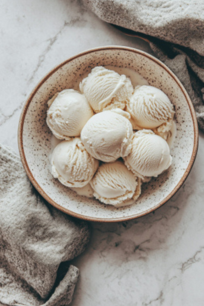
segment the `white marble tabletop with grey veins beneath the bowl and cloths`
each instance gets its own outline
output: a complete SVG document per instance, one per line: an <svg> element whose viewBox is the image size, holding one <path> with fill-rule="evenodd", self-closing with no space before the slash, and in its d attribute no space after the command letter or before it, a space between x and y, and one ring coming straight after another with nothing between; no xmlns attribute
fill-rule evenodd
<svg viewBox="0 0 204 306"><path fill-rule="evenodd" d="M51 68L80 51L147 43L124 36L73 0L1 0L0 142L17 147L26 97ZM133 221L92 223L72 306L204 305L204 135L184 185Z"/></svg>

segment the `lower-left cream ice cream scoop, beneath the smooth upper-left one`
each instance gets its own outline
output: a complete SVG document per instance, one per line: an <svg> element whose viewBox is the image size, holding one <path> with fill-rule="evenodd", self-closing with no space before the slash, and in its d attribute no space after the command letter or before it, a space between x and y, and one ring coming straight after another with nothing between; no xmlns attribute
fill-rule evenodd
<svg viewBox="0 0 204 306"><path fill-rule="evenodd" d="M91 180L99 162L85 149L79 137L64 140L52 153L52 175L68 187L83 187Z"/></svg>

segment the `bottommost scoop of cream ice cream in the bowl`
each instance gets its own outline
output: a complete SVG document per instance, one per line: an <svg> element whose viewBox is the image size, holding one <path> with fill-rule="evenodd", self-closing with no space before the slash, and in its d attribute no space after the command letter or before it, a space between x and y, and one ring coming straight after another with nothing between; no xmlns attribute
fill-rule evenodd
<svg viewBox="0 0 204 306"><path fill-rule="evenodd" d="M134 203L141 193L141 181L121 161L99 166L90 182L94 196L116 207Z"/></svg>

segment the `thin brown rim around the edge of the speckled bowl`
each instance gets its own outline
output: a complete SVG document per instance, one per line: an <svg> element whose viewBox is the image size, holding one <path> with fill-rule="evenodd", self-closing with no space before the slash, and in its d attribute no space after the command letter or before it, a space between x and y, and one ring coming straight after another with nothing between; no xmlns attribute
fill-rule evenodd
<svg viewBox="0 0 204 306"><path fill-rule="evenodd" d="M154 62L156 62L158 65L160 65L163 69L165 69L170 76L172 76L172 78L176 81L176 83L179 85L180 89L182 90L188 106L190 108L191 111L191 117L193 119L193 125L194 125L194 147L193 147L193 152L191 155L191 159L190 162L188 164L188 167L186 169L186 171L184 172L183 177L180 179L179 183L176 185L176 187L169 193L169 195L167 197L165 197L164 200L162 200L160 203L158 203L157 205L155 205L153 208L150 208L142 213L136 214L136 215L132 215L129 217L120 217L120 218L112 218L112 219L102 219L102 218L93 218L93 217L87 217L87 216L83 216L80 214L77 214L75 212L72 212L68 209L65 209L64 207L61 207L59 204L55 203L52 199L50 199L50 197L43 191L43 189L39 186L39 184L37 183L37 181L35 180L35 178L32 175L31 170L29 169L28 163L26 161L26 157L24 154L24 148L23 148L23 125L24 125L24 118L25 115L27 113L28 110L28 106L30 105L32 98L34 97L34 95L36 94L36 92L38 91L38 89L42 86L42 84L55 72L57 71L59 68L61 68L62 66L64 66L65 64L67 64L68 62L72 61L75 58L79 58L85 54L89 54L92 52L96 52L96 51L100 51L100 50L128 50L130 52L134 52L134 53L138 53L141 54L143 56L145 56L146 58L149 58L150 60L153 60ZM142 217L144 215L147 215L148 213L155 211L157 208L161 207L164 203L166 203L178 190L179 188L183 185L184 181L186 180L188 174L190 173L190 170L193 166L193 163L195 161L195 157L197 154L197 150L198 150L198 123L197 123L197 119L196 119L196 115L195 115L195 110L193 107L193 104L191 102L191 99L189 98L187 91L185 90L184 86L181 84L180 80L175 76L174 73L172 73L172 71L165 65L163 64L160 60L158 60L157 58L155 58L154 56L138 50L138 49L134 49L134 48L130 48L130 47L125 47L125 46L106 46L106 47L98 47L98 48L93 48L93 49L89 49L86 50L82 53L79 53L69 59L67 59L66 61L62 62L61 64L57 65L54 69L52 69L49 73L47 73L47 75L41 79L39 81L39 83L35 86L35 88L32 90L31 94L29 95L28 99L26 100L21 115L20 115L20 120L19 120L19 125L18 125L18 147L19 147L19 152L20 152L20 158L22 161L22 164L24 166L24 169L28 175L29 180L32 182L32 184L34 185L34 187L37 189L37 191L41 194L41 196L43 196L43 198L49 202L50 204L52 204L54 207L56 207L57 209L65 212L68 215L71 215L73 217L76 218L80 218L83 220L87 220L87 221L95 221L95 222L120 222L120 221L127 221L127 220L132 220L135 218L139 218Z"/></svg>

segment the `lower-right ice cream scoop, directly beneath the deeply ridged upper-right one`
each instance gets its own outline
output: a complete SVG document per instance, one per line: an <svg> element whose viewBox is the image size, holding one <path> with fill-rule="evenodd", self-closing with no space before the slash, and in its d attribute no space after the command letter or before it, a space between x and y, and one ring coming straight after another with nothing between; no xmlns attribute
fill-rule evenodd
<svg viewBox="0 0 204 306"><path fill-rule="evenodd" d="M136 176L157 177L168 169L172 162L167 142L151 130L135 132L132 149L124 158L125 165Z"/></svg>

